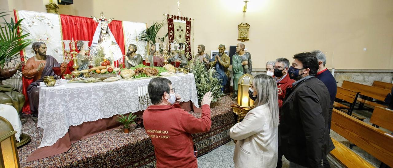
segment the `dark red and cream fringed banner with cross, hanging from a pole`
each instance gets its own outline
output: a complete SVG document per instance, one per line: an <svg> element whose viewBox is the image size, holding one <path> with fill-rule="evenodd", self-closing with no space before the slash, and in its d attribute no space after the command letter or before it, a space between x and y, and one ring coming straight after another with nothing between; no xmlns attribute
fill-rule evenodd
<svg viewBox="0 0 393 168"><path fill-rule="evenodd" d="M183 16L167 15L169 42L184 43L184 55L188 60L192 59L191 20Z"/></svg>

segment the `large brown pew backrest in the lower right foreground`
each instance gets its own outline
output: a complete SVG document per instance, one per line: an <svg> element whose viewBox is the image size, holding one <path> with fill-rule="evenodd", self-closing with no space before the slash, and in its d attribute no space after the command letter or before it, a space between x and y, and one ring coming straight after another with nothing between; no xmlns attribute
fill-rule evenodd
<svg viewBox="0 0 393 168"><path fill-rule="evenodd" d="M333 109L331 129L393 167L393 135Z"/></svg>

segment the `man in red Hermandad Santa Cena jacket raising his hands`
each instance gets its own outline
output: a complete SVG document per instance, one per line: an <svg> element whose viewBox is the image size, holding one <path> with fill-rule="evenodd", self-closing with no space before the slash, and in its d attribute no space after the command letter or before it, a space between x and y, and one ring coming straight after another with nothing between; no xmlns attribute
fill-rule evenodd
<svg viewBox="0 0 393 168"><path fill-rule="evenodd" d="M201 118L195 118L180 108L181 97L175 95L170 80L151 79L147 89L153 105L143 112L143 124L154 146L156 167L197 168L197 150L191 134L210 130L211 92L202 99Z"/></svg>

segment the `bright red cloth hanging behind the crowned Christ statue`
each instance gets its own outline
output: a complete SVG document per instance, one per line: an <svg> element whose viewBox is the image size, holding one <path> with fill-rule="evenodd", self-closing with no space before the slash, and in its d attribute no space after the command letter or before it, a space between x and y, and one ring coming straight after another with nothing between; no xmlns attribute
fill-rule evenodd
<svg viewBox="0 0 393 168"><path fill-rule="evenodd" d="M17 20L18 18L15 10L14 10L14 15L15 15L15 20ZM92 18L87 18L82 16L60 15L60 19L61 19L63 40L72 40L72 38L74 40L88 40L89 46L92 44L95 28L97 28L98 25L98 23L95 22ZM108 27L112 32L113 36L115 37L116 42L119 44L121 53L125 55L125 51L124 51L125 44L124 44L122 22L119 20L113 20L112 22L110 22L110 24L108 24ZM77 50L77 52L79 51ZM20 55L23 55L22 51L20 52ZM23 61L24 58L21 57L21 60ZM68 66L72 66L72 64L73 61L70 61ZM117 65L116 62L115 65ZM66 73L70 73L69 69L66 70ZM31 84L31 82L33 82L32 79L26 79L22 77L22 84L23 84L22 92L25 95L25 99L26 99L22 109L24 113L30 111L27 88Z"/></svg>

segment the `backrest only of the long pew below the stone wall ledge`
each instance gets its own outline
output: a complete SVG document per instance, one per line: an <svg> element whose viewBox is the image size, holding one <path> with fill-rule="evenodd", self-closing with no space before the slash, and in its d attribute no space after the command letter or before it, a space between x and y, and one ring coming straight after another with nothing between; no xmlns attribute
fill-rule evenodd
<svg viewBox="0 0 393 168"><path fill-rule="evenodd" d="M364 84L358 84L355 82L349 82L347 80L343 81L343 84L341 86L342 88L346 89L351 89L353 91L358 91L360 92L360 95L364 95L367 97L371 97L377 100L384 101L386 98L386 95L390 93L391 90L388 89L381 89L381 88L376 88L374 86L368 86Z"/></svg>

